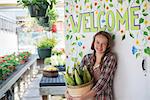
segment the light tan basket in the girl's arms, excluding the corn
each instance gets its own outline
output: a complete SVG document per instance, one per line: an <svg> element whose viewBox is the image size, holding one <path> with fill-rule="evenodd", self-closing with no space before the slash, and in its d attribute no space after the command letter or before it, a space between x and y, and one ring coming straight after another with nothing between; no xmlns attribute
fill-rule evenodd
<svg viewBox="0 0 150 100"><path fill-rule="evenodd" d="M68 85L67 90L72 97L77 97L89 92L92 87L93 87L93 79L88 83L78 85L78 86Z"/></svg>

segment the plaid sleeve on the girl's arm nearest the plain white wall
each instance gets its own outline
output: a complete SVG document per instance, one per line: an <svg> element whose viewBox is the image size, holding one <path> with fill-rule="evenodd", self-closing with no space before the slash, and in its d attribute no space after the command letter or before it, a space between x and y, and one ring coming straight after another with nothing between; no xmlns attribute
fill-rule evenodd
<svg viewBox="0 0 150 100"><path fill-rule="evenodd" d="M116 70L117 59L115 55L110 55L104 58L103 70L100 74L100 78L92 88L96 92L96 94L101 94L101 92L107 87L111 77L114 75Z"/></svg>

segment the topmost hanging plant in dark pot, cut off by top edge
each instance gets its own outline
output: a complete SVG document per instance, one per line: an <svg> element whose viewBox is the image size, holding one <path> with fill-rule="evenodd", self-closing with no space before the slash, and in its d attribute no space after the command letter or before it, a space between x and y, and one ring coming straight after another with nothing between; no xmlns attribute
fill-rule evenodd
<svg viewBox="0 0 150 100"><path fill-rule="evenodd" d="M48 6L52 9L56 0L18 0L17 3L28 7L31 17L44 17Z"/></svg>

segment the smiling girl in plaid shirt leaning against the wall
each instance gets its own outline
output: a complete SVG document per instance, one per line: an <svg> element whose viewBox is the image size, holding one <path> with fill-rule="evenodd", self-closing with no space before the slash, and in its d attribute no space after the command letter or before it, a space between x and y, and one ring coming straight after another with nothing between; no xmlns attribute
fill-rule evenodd
<svg viewBox="0 0 150 100"><path fill-rule="evenodd" d="M94 35L91 45L93 53L84 56L81 67L87 66L94 77L94 86L85 95L77 97L78 100L86 100L95 97L95 100L114 100L113 78L116 71L117 59L111 52L112 38L107 32L100 31ZM68 99L73 99L66 92Z"/></svg>

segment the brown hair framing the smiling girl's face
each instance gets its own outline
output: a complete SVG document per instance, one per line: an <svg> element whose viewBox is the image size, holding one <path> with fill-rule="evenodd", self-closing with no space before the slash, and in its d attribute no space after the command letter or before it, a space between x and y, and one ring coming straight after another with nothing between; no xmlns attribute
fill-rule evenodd
<svg viewBox="0 0 150 100"><path fill-rule="evenodd" d="M98 36L98 35L102 35L102 36L105 36L105 37L107 38L108 42L107 42L107 48L106 48L105 53L110 52L111 46L112 46L112 37L111 37L110 33L105 32L105 31L97 32L97 33L94 35L94 37L93 37L93 42L92 42L92 45L91 45L91 49L94 50L94 52L95 52L95 49L94 49L94 42L95 42L95 37Z"/></svg>

